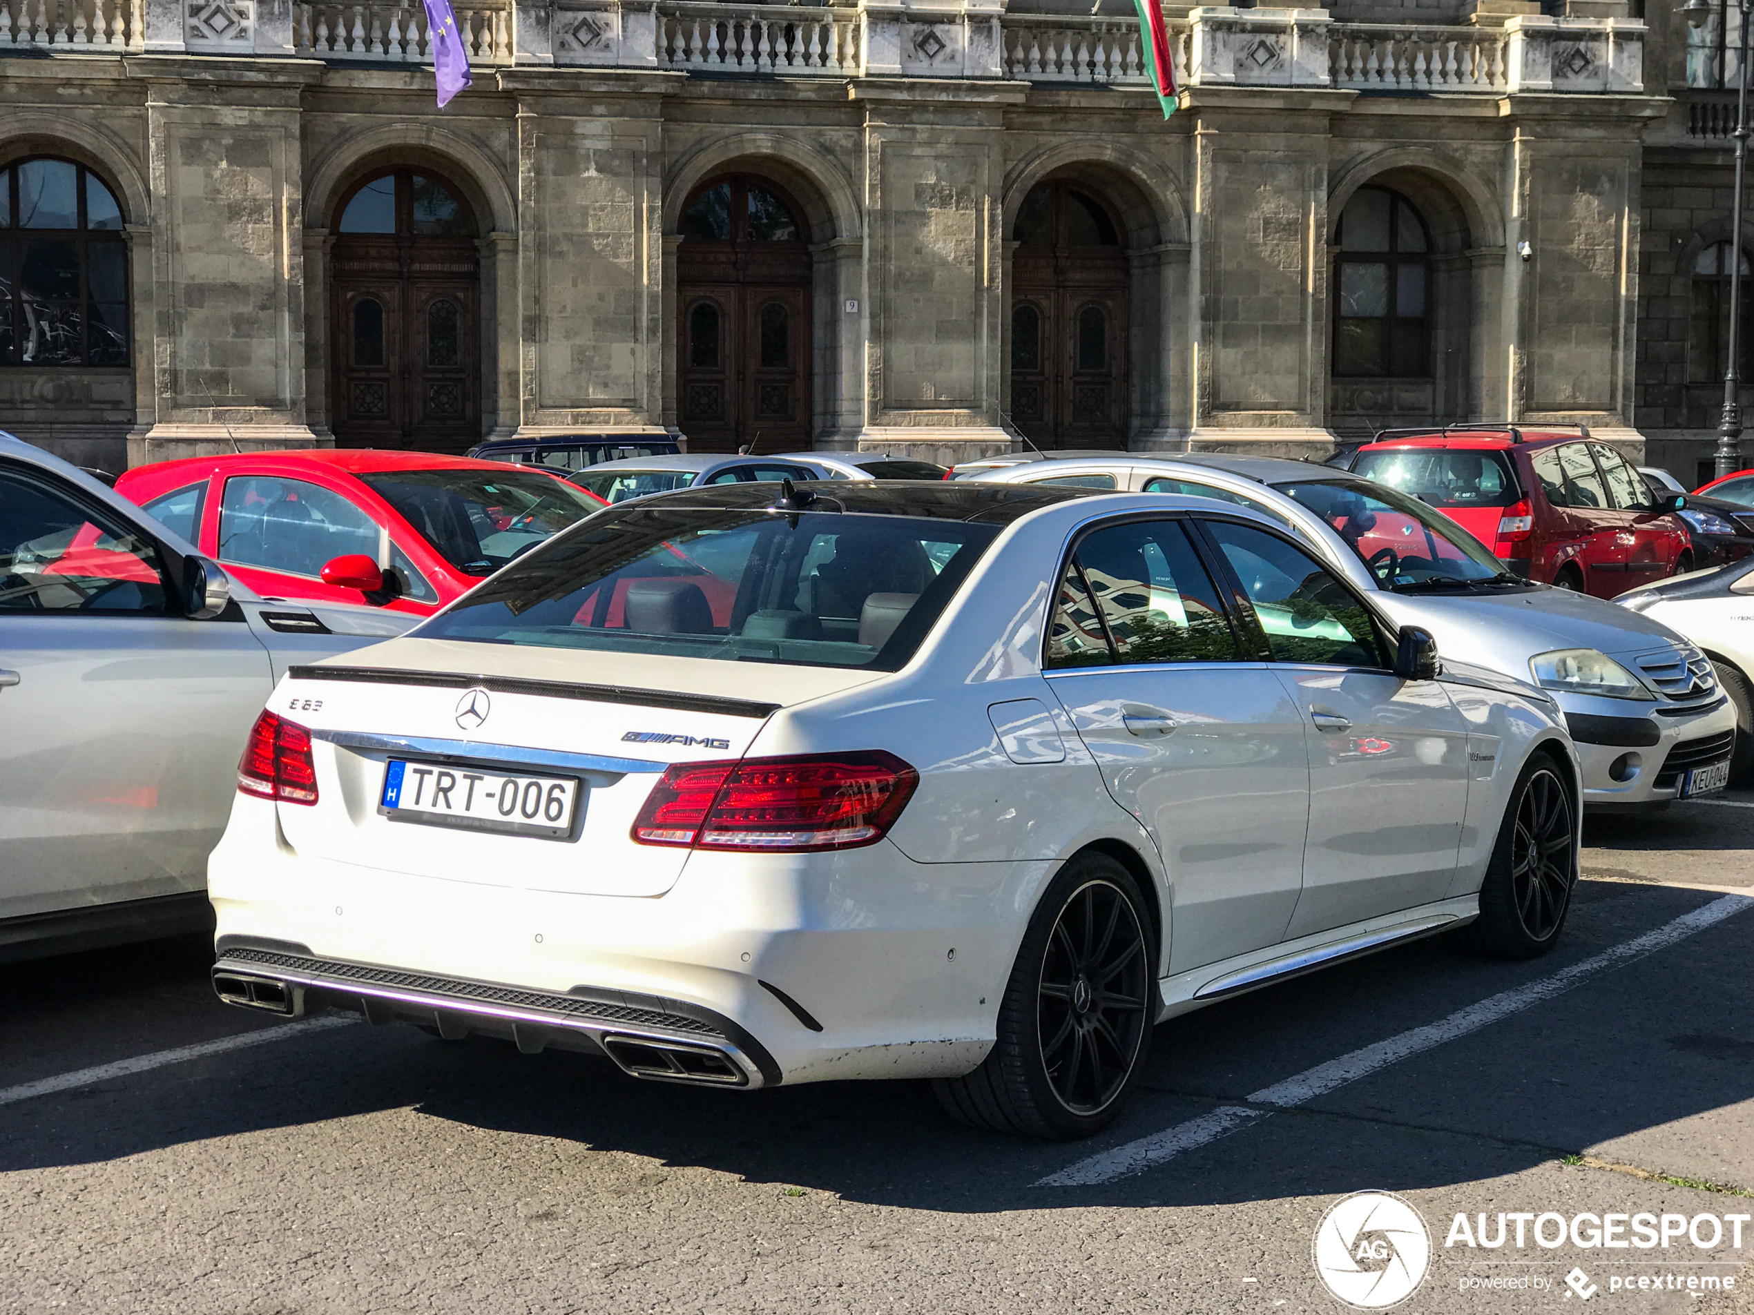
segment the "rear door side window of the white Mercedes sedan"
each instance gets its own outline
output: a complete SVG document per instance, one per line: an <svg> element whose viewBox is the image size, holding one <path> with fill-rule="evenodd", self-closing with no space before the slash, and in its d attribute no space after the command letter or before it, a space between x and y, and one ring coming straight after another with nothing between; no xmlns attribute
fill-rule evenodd
<svg viewBox="0 0 1754 1315"><path fill-rule="evenodd" d="M1179 521L1126 521L1079 542L1049 628L1047 666L1238 656L1217 589Z"/></svg>

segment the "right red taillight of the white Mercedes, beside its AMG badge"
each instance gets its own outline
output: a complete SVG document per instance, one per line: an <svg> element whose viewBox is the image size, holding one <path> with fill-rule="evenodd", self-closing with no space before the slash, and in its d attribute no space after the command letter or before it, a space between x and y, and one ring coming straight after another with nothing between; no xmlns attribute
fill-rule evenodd
<svg viewBox="0 0 1754 1315"><path fill-rule="evenodd" d="M633 821L642 845L821 850L882 840L919 784L881 749L821 757L677 763Z"/></svg>

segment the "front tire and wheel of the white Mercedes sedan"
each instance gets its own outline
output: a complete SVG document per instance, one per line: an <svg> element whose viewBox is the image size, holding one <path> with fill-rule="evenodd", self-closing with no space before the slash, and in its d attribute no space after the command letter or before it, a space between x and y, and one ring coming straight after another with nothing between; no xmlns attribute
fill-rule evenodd
<svg viewBox="0 0 1754 1315"><path fill-rule="evenodd" d="M1559 943L1577 887L1577 798L1547 754L1517 777L1461 943L1489 959L1535 959Z"/></svg>

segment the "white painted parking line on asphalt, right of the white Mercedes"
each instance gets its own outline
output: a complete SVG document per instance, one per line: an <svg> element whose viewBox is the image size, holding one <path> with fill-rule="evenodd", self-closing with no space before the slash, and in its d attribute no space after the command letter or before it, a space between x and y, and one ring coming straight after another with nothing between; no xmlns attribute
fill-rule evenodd
<svg viewBox="0 0 1754 1315"><path fill-rule="evenodd" d="M1377 1041L1375 1045L1352 1050L1338 1059L1330 1059L1326 1064L1317 1064L1316 1068L1305 1070L1303 1073L1286 1078L1284 1082L1275 1082L1272 1087L1261 1087L1261 1091L1247 1096L1247 1099L1252 1105L1273 1105L1282 1110L1294 1108L1305 1101L1316 1099L1317 1096L1326 1096L1337 1087L1344 1087L1349 1082L1368 1077L1380 1068L1387 1068L1389 1064L1415 1056L1421 1050L1430 1050L1444 1041L1452 1041L1458 1036L1479 1031L1480 1027L1498 1022L1500 1019L1508 1019L1512 1013L1521 1013L1544 999L1552 999L1554 996L1570 991L1589 977L1596 977L1610 968L1619 968L1633 959L1654 954L1656 950L1686 940L1696 931L1703 931L1705 928L1722 922L1726 917L1740 913L1749 906L1754 906L1754 898L1745 894L1726 894L1708 905L1694 908L1691 913L1682 913L1673 922L1665 922L1654 931L1647 931L1645 935L1635 936L1621 945L1612 945L1607 950L1601 950L1601 954L1582 959L1570 968L1561 968L1552 977L1544 977L1537 982L1501 991L1500 994L1489 996L1477 1005L1456 1010L1447 1019L1440 1019L1438 1022L1426 1024L1424 1027L1412 1027L1398 1036L1387 1038L1386 1041ZM1089 1159L1082 1159L1059 1173L1042 1178L1035 1185L1094 1187L1096 1184L1144 1173L1145 1169L1173 1159L1184 1150L1203 1147L1209 1141L1216 1141L1238 1127L1254 1124L1270 1113L1272 1110L1249 1110L1240 1105L1219 1106L1212 1113L1189 1119L1186 1124L1166 1127L1161 1133L1152 1133L1151 1136L1128 1141L1114 1150L1103 1150Z"/></svg>

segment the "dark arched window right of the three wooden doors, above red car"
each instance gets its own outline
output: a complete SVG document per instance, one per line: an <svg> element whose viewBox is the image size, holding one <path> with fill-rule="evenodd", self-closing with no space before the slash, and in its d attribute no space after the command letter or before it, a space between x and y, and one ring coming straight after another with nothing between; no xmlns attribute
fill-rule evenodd
<svg viewBox="0 0 1754 1315"><path fill-rule="evenodd" d="M1431 242L1412 202L1359 188L1340 212L1333 372L1424 379Z"/></svg>

